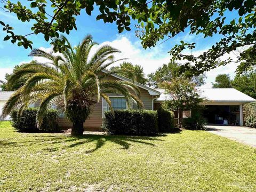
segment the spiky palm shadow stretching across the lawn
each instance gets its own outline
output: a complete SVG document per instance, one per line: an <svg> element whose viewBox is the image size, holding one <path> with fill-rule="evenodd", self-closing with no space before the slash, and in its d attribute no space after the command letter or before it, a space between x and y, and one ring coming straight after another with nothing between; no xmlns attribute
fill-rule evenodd
<svg viewBox="0 0 256 192"><path fill-rule="evenodd" d="M54 151L74 148L77 146L86 145L87 143L95 142L96 145L93 149L88 149L85 151L85 153L93 153L107 142L116 143L117 145L121 146L122 149L129 149L129 147L132 146L132 143L139 143L154 147L155 144L153 141L163 141L161 137L165 137L166 134L158 134L155 137L99 134L84 134L79 137L73 137L65 134L44 135L27 133L26 136L28 137L9 138L8 140L0 139L0 149L6 147L17 147L18 150L19 147L37 147L38 145L39 150L52 153Z"/></svg>

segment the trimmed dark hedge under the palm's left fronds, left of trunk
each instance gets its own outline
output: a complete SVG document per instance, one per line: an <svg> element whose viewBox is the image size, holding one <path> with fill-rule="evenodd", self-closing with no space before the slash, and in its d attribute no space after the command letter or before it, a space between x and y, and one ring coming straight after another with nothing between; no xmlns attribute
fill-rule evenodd
<svg viewBox="0 0 256 192"><path fill-rule="evenodd" d="M58 110L48 109L41 127L37 127L36 114L37 108L28 108L22 111L18 117L18 110L13 110L11 113L12 126L20 132L59 132L57 123Z"/></svg>

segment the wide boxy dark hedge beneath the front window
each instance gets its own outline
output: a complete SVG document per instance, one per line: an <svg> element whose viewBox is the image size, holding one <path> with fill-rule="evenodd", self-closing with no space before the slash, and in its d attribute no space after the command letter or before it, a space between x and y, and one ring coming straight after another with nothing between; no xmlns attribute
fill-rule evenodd
<svg viewBox="0 0 256 192"><path fill-rule="evenodd" d="M157 111L114 110L105 112L102 129L117 135L156 135L158 133Z"/></svg>

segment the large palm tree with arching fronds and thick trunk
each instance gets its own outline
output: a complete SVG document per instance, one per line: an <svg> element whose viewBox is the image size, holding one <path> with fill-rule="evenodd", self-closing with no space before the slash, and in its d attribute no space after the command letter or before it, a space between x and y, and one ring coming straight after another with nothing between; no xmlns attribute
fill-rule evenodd
<svg viewBox="0 0 256 192"><path fill-rule="evenodd" d="M57 41L66 41L67 49L60 55L34 49L29 56L43 57L49 62L28 63L10 77L10 86L19 78L29 78L6 102L3 116L17 107L20 114L30 103L39 100L37 123L40 126L46 109L51 107L54 100L61 98L66 117L73 123L71 134L81 135L84 132L83 123L89 117L93 104L99 102L100 97L107 101L111 109L109 93L122 94L129 107L135 102L143 108L137 86L130 82L107 78L113 73L118 73L120 69L102 73L103 69L118 61L114 60L113 55L119 52L117 49L108 45L101 46L92 57L89 57L92 47L97 45L92 41L91 35L87 35L82 43L74 48L64 36Z"/></svg>

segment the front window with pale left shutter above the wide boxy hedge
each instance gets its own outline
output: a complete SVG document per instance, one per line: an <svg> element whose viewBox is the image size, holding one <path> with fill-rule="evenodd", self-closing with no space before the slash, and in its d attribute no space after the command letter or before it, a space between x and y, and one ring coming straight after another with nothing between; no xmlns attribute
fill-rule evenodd
<svg viewBox="0 0 256 192"><path fill-rule="evenodd" d="M111 101L111 106L114 110L126 109L126 99L124 97L109 97ZM102 117L104 117L105 111L110 110L108 103L105 99L102 98Z"/></svg>

